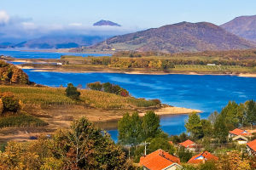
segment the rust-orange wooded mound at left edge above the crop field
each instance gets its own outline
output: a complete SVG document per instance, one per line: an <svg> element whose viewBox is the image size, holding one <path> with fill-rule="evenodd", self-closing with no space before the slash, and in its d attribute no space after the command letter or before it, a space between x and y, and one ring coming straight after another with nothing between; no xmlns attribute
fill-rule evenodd
<svg viewBox="0 0 256 170"><path fill-rule="evenodd" d="M15 65L0 59L0 84L29 84L28 76Z"/></svg>

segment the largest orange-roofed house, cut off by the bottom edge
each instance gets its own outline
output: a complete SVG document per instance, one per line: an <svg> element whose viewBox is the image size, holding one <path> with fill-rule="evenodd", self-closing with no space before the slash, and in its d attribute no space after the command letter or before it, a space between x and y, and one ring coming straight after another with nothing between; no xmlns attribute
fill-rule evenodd
<svg viewBox="0 0 256 170"><path fill-rule="evenodd" d="M164 150L156 150L147 156L140 158L140 165L143 170L176 170L182 169L179 165L180 160L176 156L172 156Z"/></svg>

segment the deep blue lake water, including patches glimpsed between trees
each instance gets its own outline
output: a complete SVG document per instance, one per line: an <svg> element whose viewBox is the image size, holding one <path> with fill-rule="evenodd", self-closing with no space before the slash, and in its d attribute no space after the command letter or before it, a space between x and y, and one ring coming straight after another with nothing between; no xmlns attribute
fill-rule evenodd
<svg viewBox="0 0 256 170"><path fill-rule="evenodd" d="M37 54L39 55L48 58L44 54ZM60 57L61 54L52 55ZM256 78L252 77L24 71L32 82L51 87L67 86L68 82L75 86L81 84L83 87L88 82L112 82L126 88L137 98L160 99L168 105L201 110L202 118L207 118L213 111L220 111L230 100L241 103L256 99ZM163 116L160 118L160 125L170 135L183 133L187 118L187 115ZM116 141L117 130L110 130L109 133Z"/></svg>

